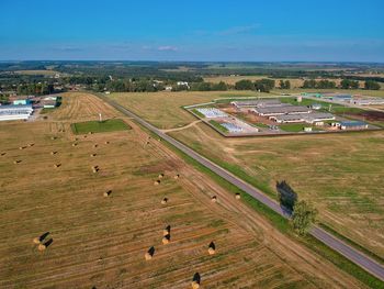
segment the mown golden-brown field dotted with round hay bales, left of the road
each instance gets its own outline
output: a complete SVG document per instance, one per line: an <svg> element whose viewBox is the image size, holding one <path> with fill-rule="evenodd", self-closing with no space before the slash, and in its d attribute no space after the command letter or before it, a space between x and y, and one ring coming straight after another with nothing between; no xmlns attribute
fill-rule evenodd
<svg viewBox="0 0 384 289"><path fill-rule="evenodd" d="M1 288L189 288L195 273L203 288L363 288L95 97L63 99L0 123ZM100 112L132 130L71 133Z"/></svg>

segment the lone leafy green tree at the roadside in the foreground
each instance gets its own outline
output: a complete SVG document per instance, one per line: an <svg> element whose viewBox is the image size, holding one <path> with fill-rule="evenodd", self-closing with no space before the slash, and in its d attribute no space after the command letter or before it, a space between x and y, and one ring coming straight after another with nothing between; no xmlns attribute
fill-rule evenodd
<svg viewBox="0 0 384 289"><path fill-rule="evenodd" d="M300 235L306 235L312 224L316 222L317 213L312 203L306 201L296 202L291 219L294 231Z"/></svg>

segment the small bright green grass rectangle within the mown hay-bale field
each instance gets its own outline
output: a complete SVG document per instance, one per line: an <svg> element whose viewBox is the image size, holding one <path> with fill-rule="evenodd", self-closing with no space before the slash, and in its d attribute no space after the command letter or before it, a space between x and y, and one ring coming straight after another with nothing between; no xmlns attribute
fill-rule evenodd
<svg viewBox="0 0 384 289"><path fill-rule="evenodd" d="M129 130L131 126L118 119L99 121L78 122L70 125L75 134L102 133Z"/></svg>

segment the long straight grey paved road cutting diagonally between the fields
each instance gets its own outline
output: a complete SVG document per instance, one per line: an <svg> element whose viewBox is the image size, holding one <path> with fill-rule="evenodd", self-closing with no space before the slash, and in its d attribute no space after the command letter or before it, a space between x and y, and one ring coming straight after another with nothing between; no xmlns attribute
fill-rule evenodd
<svg viewBox="0 0 384 289"><path fill-rule="evenodd" d="M218 176L223 177L230 184L235 185L239 189L244 190L248 194L252 196L255 199L259 200L260 202L264 203L269 208L271 208L273 211L278 212L279 214L287 218L287 215L283 212L283 210L280 208L279 203L272 200L271 198L267 197L263 192L256 189L251 185L247 184L246 181L239 179L238 177L234 176L231 173L227 171L226 169L219 167L218 165L214 164L213 162L208 160L207 158L201 156L193 149L189 148L188 146L183 145L182 143L176 141L174 138L170 137L169 135L165 134L160 130L158 130L156 126L151 125L150 123L144 121L142 118L136 115L135 113L128 111L127 109L123 108L118 103L114 102L113 100L104 97L104 96L98 96L112 107L114 107L116 110L121 111L123 114L134 119L136 122L142 124L144 127L148 129L149 131L154 132L161 138L166 140L177 148L179 148L181 152L185 153L203 166L207 167L212 171L216 173ZM371 273L372 275L376 276L381 280L384 281L384 266L379 264L377 262L373 260L372 258L368 257L360 251L347 245L336 236L331 235L330 233L326 232L325 230L314 226L309 232L314 237L326 244L327 246L331 247L332 249L339 252L343 256L346 256L348 259L353 262L354 264L359 265L366 271Z"/></svg>

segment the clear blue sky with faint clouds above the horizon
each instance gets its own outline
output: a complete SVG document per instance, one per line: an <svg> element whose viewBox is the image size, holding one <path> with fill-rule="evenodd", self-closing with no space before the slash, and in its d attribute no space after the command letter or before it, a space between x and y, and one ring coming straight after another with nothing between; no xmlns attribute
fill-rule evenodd
<svg viewBox="0 0 384 289"><path fill-rule="evenodd" d="M384 62L383 0L0 0L0 59Z"/></svg>

